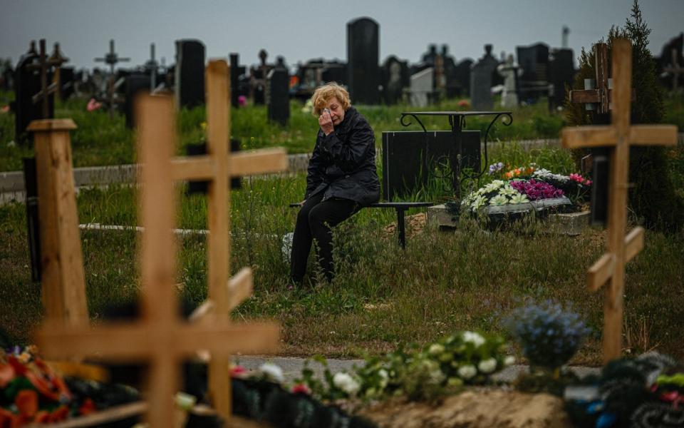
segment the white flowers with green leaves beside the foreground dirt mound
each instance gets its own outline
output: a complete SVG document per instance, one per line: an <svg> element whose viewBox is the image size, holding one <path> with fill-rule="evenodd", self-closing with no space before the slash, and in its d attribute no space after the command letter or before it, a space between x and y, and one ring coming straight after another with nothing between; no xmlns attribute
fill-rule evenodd
<svg viewBox="0 0 684 428"><path fill-rule="evenodd" d="M306 365L301 387L320 399L381 399L405 396L409 399L435 399L457 392L464 384L480 384L512 365L498 335L458 332L423 347L400 347L382 357L371 357L353 372L332 374L323 357L323 380Z"/></svg>

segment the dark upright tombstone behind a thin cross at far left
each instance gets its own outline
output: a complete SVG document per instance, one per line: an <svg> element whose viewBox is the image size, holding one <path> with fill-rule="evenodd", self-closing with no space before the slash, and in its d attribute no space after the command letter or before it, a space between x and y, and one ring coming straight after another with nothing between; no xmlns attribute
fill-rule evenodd
<svg viewBox="0 0 684 428"><path fill-rule="evenodd" d="M14 70L14 135L17 143L24 144L31 141L31 136L26 132L28 123L43 117L41 103L33 103L33 96L41 91L41 71L36 68L38 53L35 42L31 43L31 49L19 58ZM52 76L48 74L47 80ZM54 96L48 98L48 117L54 116Z"/></svg>

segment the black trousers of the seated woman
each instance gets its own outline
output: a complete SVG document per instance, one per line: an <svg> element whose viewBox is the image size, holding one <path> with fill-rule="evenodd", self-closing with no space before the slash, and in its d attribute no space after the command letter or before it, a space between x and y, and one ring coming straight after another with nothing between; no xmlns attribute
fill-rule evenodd
<svg viewBox="0 0 684 428"><path fill-rule="evenodd" d="M311 196L297 214L292 238L292 256L290 260L290 276L301 282L306 272L306 260L309 259L311 243L318 243L318 263L323 273L332 279L333 268L333 235L331 228L350 218L358 211L358 203L349 199L333 198L325 202L323 193Z"/></svg>

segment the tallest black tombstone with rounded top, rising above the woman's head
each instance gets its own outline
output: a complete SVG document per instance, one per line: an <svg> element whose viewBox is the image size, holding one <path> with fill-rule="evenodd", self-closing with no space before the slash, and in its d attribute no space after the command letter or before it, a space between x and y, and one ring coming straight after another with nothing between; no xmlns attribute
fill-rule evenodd
<svg viewBox="0 0 684 428"><path fill-rule="evenodd" d="M347 24L348 86L358 104L380 103L380 26L370 18Z"/></svg>

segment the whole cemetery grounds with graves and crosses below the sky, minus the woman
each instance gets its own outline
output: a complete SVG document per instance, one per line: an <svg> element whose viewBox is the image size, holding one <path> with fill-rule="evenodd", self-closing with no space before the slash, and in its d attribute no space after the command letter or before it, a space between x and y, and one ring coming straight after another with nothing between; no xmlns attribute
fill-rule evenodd
<svg viewBox="0 0 684 428"><path fill-rule="evenodd" d="M346 62L296 66L27 41L0 61L0 428L684 427L684 34L616 15L581 52L415 63L367 16ZM331 82L380 198L293 281Z"/></svg>

